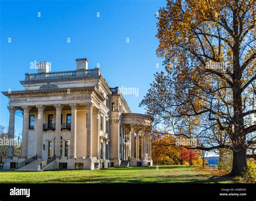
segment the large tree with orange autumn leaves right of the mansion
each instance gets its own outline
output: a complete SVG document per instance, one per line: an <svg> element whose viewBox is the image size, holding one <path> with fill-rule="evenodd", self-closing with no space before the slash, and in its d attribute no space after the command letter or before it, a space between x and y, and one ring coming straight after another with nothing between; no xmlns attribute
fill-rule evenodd
<svg viewBox="0 0 256 201"><path fill-rule="evenodd" d="M252 0L167 1L157 17L165 72L156 73L140 104L169 125L199 120L197 133L208 143L191 149L231 149L230 176L247 171L246 151L255 142L253 6Z"/></svg>

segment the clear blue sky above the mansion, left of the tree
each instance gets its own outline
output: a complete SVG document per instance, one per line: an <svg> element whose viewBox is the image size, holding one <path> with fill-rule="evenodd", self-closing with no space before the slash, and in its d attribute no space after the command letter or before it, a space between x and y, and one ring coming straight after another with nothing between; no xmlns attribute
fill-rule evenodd
<svg viewBox="0 0 256 201"><path fill-rule="evenodd" d="M99 64L111 87L138 87L138 96L124 97L132 112L144 113L139 102L153 74L164 70L156 56L155 15L166 1L0 2L1 92L23 90L19 81L36 73L30 69L35 60L51 62L54 72L76 70L75 59L87 58L89 68ZM8 127L8 99L2 93L0 103L0 124ZM19 133L21 114L15 123Z"/></svg>

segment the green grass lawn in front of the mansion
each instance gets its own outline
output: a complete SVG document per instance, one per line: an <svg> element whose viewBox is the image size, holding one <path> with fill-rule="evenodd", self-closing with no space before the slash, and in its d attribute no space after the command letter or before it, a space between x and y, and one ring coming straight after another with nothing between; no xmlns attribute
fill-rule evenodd
<svg viewBox="0 0 256 201"><path fill-rule="evenodd" d="M103 170L2 171L0 183L232 183L218 171L201 167L165 165Z"/></svg>

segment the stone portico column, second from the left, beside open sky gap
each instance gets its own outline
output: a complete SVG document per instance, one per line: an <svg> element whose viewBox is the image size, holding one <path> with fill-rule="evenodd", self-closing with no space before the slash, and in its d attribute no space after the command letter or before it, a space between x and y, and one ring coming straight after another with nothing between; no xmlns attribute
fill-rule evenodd
<svg viewBox="0 0 256 201"><path fill-rule="evenodd" d="M29 140L29 110L30 106L22 106L23 109L23 130L22 130L22 157L28 157Z"/></svg>

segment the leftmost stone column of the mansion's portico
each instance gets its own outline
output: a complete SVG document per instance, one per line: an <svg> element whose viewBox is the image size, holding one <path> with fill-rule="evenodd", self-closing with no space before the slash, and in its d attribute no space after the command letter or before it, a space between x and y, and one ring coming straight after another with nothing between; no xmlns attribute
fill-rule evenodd
<svg viewBox="0 0 256 201"><path fill-rule="evenodd" d="M8 131L8 139L9 142L14 141L14 124L15 124L15 111L16 108L14 106L7 107L10 112L10 119L9 119L9 131ZM7 158L14 157L14 146L8 145L7 147Z"/></svg>

